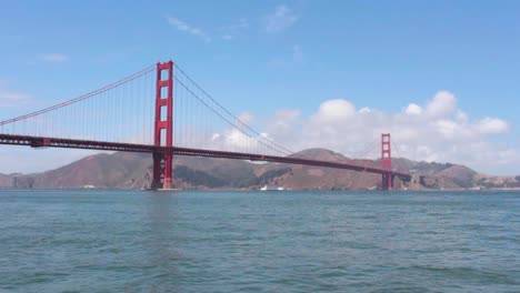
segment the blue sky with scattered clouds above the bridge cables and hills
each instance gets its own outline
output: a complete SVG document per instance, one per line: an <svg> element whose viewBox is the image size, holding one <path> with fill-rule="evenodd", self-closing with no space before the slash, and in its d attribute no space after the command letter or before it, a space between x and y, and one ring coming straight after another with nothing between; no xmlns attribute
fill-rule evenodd
<svg viewBox="0 0 520 293"><path fill-rule="evenodd" d="M266 121L301 132L294 149L348 154L352 141L338 133L371 141L372 131L359 134L368 119L412 159L520 174L518 1L9 1L0 36L0 120L173 59L272 138L288 130ZM341 141L304 134L320 128ZM403 128L411 134L399 138ZM32 155L13 150L2 146L0 160Z"/></svg>

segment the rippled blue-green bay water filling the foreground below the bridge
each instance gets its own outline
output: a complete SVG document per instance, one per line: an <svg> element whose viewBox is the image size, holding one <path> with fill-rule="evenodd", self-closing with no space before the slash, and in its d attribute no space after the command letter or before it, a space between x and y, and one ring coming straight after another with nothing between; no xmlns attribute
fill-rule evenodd
<svg viewBox="0 0 520 293"><path fill-rule="evenodd" d="M520 192L0 190L0 292L520 292Z"/></svg>

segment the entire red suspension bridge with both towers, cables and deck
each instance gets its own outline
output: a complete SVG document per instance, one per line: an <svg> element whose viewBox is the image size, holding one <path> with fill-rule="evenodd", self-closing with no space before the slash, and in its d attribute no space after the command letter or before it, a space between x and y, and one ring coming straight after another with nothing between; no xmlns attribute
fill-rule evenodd
<svg viewBox="0 0 520 293"><path fill-rule="evenodd" d="M390 134L381 134L381 166L298 158L223 108L179 65L159 62L52 107L0 121L0 144L151 153L152 189L173 188L173 155L303 164L396 178Z"/></svg>

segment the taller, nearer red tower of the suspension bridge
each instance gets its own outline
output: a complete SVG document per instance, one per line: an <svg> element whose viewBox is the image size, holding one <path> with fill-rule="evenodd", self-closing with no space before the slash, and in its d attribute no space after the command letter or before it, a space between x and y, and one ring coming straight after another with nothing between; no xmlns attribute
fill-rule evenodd
<svg viewBox="0 0 520 293"><path fill-rule="evenodd" d="M163 72L167 72L166 78ZM157 63L156 121L153 144L173 146L173 62ZM172 183L173 154L153 152L151 189L170 190Z"/></svg>

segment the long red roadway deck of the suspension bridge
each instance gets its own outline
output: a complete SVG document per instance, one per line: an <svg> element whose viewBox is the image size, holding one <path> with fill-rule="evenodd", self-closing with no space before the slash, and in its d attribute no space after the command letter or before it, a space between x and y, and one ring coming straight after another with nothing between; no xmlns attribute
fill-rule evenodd
<svg viewBox="0 0 520 293"><path fill-rule="evenodd" d="M411 175L401 172L388 172L378 168L367 168L356 164L338 163L329 161L318 161L309 159L300 159L292 156L262 155L252 153L211 151L201 149L189 149L179 146L156 146L149 144L88 141L88 140L71 140L58 138L42 138L29 135L0 134L0 144L28 145L32 148L67 148L67 149L84 149L84 150L101 150L101 151L121 151L121 152L144 152L144 153L173 153L179 155L206 156L206 158L224 158L249 161L266 161L288 164L303 164L326 168L336 168L344 170L353 170L359 172L369 172L376 174L389 174L397 176L403 181L411 181Z"/></svg>

